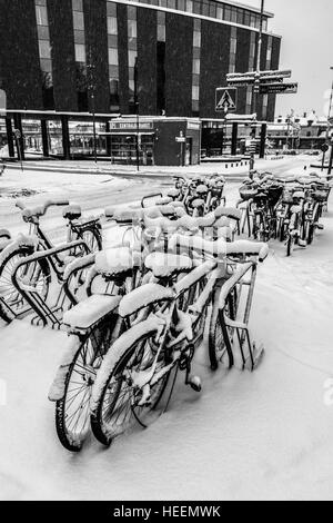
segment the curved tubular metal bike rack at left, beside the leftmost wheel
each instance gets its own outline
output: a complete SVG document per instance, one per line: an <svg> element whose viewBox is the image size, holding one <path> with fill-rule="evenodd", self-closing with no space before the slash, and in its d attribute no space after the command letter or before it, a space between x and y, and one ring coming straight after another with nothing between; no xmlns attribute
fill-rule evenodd
<svg viewBox="0 0 333 523"><path fill-rule="evenodd" d="M53 265L53 258L61 254L68 251L71 256L78 254L81 255L83 258L84 254L85 256L85 263L82 262L79 267L73 267L73 269L68 274L67 279L59 282L60 284L60 289L56 290L56 293L52 295L51 298L44 299L39 292L29 283L22 282L20 279L20 269L24 268L29 269L29 266L32 264L36 264L37 262L44 260L47 262L51 267ZM12 274L12 283L14 287L17 288L18 293L22 296L23 299L29 304L31 309L34 312L34 316L31 318L31 324L32 325L43 325L43 326L51 326L53 329L60 329L62 326L62 315L65 310L71 308L72 306L77 305L79 303L78 295L73 289L71 289L71 280L72 278L77 275L78 272L82 272L89 266L93 264L93 260L91 256L88 256L89 249L88 246L84 241L78 240L73 241L71 244L60 246L60 247L54 247L49 250L43 250L40 253L34 253L31 256L28 256L27 258L23 258L14 268L14 272ZM57 286L57 283L53 282L53 285ZM52 287L52 283L51 283ZM53 290L51 288L51 290ZM54 296L56 295L56 296ZM53 304L48 303L54 298ZM27 310L24 316L29 315L31 312Z"/></svg>

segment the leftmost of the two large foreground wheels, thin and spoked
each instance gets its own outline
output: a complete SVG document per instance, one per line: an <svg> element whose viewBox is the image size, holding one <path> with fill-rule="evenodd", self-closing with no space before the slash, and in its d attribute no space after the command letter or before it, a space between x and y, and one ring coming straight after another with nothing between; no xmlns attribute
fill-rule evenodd
<svg viewBox="0 0 333 523"><path fill-rule="evenodd" d="M115 322L115 316L108 316L84 336L64 376L63 397L56 403L56 430L70 452L79 452L88 436L91 391L112 343Z"/></svg>

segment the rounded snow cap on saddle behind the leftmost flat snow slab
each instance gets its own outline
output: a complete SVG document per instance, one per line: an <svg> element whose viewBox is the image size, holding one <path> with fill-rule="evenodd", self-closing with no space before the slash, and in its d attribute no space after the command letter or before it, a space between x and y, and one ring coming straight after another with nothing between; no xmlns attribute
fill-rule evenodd
<svg viewBox="0 0 333 523"><path fill-rule="evenodd" d="M95 255L94 268L103 276L120 276L141 263L140 253L129 247L115 247L100 250Z"/></svg>

